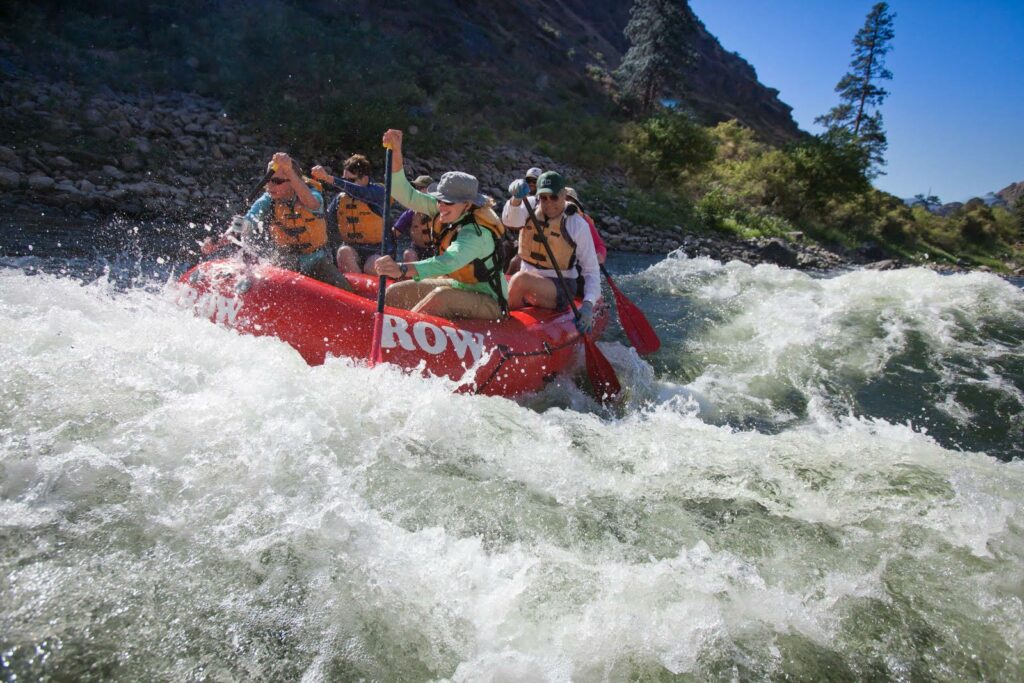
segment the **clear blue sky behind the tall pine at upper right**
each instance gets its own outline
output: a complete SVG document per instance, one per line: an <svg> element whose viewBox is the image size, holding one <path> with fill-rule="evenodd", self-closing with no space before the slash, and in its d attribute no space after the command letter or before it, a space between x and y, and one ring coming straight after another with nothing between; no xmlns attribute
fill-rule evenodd
<svg viewBox="0 0 1024 683"><path fill-rule="evenodd" d="M837 102L851 41L874 0L690 0L718 37L780 91L804 130ZM899 197L964 201L1024 180L1024 0L893 0L893 80L882 108L886 175Z"/></svg>

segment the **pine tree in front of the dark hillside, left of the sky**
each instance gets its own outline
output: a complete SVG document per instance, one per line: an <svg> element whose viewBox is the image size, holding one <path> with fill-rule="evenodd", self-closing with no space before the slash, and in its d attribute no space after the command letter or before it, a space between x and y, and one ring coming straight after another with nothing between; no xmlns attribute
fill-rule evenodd
<svg viewBox="0 0 1024 683"><path fill-rule="evenodd" d="M625 32L630 49L614 75L623 95L639 113L649 113L668 89L681 86L694 59L689 40L695 27L686 0L634 3Z"/></svg>

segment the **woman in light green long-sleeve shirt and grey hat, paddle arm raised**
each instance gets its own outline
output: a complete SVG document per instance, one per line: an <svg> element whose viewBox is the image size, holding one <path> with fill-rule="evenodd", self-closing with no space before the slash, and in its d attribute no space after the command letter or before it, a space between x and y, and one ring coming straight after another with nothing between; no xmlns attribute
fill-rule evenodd
<svg viewBox="0 0 1024 683"><path fill-rule="evenodd" d="M479 194L475 177L459 171L442 175L435 191L418 191L402 168L401 131L384 133L384 144L391 147L392 198L433 218L437 248L437 256L421 261L377 259L377 274L402 281L388 288L385 303L439 317L501 317L507 310L508 282L498 242L505 228L492 200Z"/></svg>

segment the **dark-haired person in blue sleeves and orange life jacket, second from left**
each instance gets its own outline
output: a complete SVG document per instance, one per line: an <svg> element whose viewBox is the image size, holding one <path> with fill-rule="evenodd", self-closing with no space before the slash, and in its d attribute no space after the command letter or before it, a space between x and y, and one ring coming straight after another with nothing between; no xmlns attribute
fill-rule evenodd
<svg viewBox="0 0 1024 683"><path fill-rule="evenodd" d="M327 209L331 239L338 248L338 269L342 272L373 274L374 261L380 255L384 239L384 185L370 182L370 160L352 155L342 166L341 177L328 173L323 166L312 170L315 179L329 182L341 193Z"/></svg>

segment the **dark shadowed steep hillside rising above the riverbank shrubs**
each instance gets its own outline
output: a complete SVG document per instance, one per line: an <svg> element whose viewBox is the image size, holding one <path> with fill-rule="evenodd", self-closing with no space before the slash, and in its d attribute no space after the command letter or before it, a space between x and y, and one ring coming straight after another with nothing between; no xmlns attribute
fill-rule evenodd
<svg viewBox="0 0 1024 683"><path fill-rule="evenodd" d="M506 139L509 131L550 137L586 125L586 116L623 116L608 86L629 47L631 7L624 0L565 0L557 11L540 0L13 0L0 10L7 41L0 56L50 78L190 90L236 110L261 109L264 119L317 119L293 131L307 139L333 125L362 141L385 118L427 137L484 125ZM702 120L735 118L771 142L799 135L778 93L699 23L693 48L698 58L682 98ZM366 111L353 111L360 105Z"/></svg>

